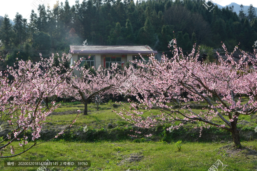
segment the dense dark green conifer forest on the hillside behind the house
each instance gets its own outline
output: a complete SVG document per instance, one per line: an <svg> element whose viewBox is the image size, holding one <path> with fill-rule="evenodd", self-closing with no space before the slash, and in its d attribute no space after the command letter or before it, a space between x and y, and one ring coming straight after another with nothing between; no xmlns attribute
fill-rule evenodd
<svg viewBox="0 0 257 171"><path fill-rule="evenodd" d="M174 37L183 50L192 50L194 42L221 48L222 41L229 51L239 42L239 48L252 51L257 39L257 18L252 5L247 15L241 5L237 15L233 7L214 7L210 11L203 3L203 0L137 0L128 4L120 0L83 0L70 6L66 0L57 1L53 10L39 5L38 14L32 10L29 21L19 13L13 20L14 26L8 15L1 18L1 48L5 50L0 55L6 57L8 49L25 50L25 43L31 46L31 51L67 52L70 44L82 44L85 40L89 45L148 44L153 50L169 51L168 43ZM38 54L37 51L32 56Z"/></svg>

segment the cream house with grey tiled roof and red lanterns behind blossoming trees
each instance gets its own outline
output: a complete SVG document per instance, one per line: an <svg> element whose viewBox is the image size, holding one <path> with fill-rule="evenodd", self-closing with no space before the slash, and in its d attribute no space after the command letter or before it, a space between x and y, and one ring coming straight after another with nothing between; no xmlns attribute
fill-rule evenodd
<svg viewBox="0 0 257 171"><path fill-rule="evenodd" d="M142 60L140 55L149 61L151 53L157 54L157 51L152 50L148 45L139 46L105 46L105 45L70 45L69 55L71 58L71 65L74 61L83 58L80 67L88 63L89 67L94 66L96 69L102 65L104 68L111 67L113 62L121 64L122 66L132 60ZM138 54L140 53L140 55ZM90 58L89 58L90 55ZM74 73L79 76L79 71L75 70Z"/></svg>

